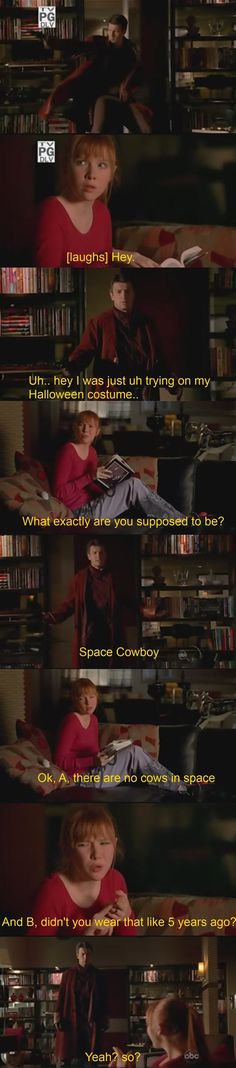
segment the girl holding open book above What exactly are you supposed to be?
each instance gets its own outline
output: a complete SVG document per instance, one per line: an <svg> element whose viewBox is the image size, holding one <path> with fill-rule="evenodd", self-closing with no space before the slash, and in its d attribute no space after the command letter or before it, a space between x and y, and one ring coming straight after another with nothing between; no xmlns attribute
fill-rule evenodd
<svg viewBox="0 0 236 1068"><path fill-rule="evenodd" d="M99 429L100 421L95 412L86 410L75 417L70 440L60 450L56 462L54 497L75 515L86 515L92 522L93 519L114 519L132 507L145 516L180 517L180 512L148 489L141 478L129 475L128 468L128 477L116 482L108 468L98 466L93 442ZM98 485L99 481L107 484L107 490Z"/></svg>

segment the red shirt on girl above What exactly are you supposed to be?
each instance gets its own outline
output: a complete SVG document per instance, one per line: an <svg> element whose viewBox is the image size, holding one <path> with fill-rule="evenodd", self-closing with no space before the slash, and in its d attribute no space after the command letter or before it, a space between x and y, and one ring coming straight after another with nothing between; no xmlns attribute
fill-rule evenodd
<svg viewBox="0 0 236 1068"><path fill-rule="evenodd" d="M89 455L82 460L70 441L60 450L54 469L53 494L68 508L81 508L93 497L99 494L94 478L97 471L97 454L91 445Z"/></svg>

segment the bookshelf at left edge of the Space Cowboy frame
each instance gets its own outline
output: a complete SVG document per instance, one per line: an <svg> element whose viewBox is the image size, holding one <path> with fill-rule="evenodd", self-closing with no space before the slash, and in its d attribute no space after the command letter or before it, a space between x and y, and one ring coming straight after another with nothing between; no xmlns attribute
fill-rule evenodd
<svg viewBox="0 0 236 1068"><path fill-rule="evenodd" d="M46 561L36 534L0 534L0 666L42 668Z"/></svg>

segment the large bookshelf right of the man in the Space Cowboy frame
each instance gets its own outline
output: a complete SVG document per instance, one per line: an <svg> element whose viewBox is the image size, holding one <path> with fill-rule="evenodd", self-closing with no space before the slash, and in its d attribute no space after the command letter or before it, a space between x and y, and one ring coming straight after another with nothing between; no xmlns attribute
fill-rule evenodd
<svg viewBox="0 0 236 1068"><path fill-rule="evenodd" d="M235 541L231 535L143 535L141 639L162 661L235 666Z"/></svg>

